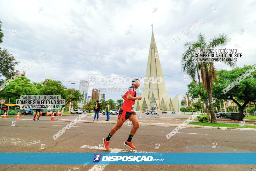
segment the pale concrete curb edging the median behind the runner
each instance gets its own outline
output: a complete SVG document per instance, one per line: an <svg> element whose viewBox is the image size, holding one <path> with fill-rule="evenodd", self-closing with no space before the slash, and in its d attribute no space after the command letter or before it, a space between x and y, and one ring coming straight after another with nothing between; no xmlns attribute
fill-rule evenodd
<svg viewBox="0 0 256 171"><path fill-rule="evenodd" d="M56 119L56 121L66 121L71 122L73 120L70 119ZM115 124L115 121L89 121L89 120L81 120L79 122L84 123L101 123L101 124ZM124 123L125 125L128 125L127 122ZM140 125L147 125L147 126L173 126L177 127L180 126L180 124L163 124L163 123L149 123L149 122L140 122ZM255 128L227 128L227 127L217 127L217 126L201 126L201 125L186 125L186 128L208 128L208 129L229 129L229 130L241 130L241 131L256 131Z"/></svg>

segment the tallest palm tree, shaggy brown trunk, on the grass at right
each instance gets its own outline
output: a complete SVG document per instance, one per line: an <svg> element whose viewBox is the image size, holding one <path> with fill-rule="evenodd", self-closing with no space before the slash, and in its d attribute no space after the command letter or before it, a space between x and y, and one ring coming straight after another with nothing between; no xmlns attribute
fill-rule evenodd
<svg viewBox="0 0 256 171"><path fill-rule="evenodd" d="M229 42L226 34L212 38L209 43L206 42L203 34L198 35L196 42L187 42L184 44L186 51L182 54L181 63L182 70L186 72L196 82L196 77L202 78L203 86L209 98L209 111L211 114L211 123L217 123L212 103L212 81L215 78L215 68L213 62L200 63L194 58L194 53L200 49L214 49L218 46L226 45ZM225 64L233 67L234 63L225 62ZM200 73L200 75L199 75ZM200 81L199 81L200 83ZM200 85L201 86L201 85Z"/></svg>

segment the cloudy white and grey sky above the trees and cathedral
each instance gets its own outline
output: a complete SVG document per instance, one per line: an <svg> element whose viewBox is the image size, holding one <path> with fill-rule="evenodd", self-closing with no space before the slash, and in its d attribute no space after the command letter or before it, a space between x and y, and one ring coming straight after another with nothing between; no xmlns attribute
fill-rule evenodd
<svg viewBox="0 0 256 171"><path fill-rule="evenodd" d="M20 61L17 70L32 64L26 72L31 81L52 78L68 88L72 88L71 82L77 83L74 87L78 89L79 80L88 80L88 74L145 76L154 24L168 96L173 98L185 94L191 81L184 80L186 74L181 71L183 45L200 32L207 40L227 34L231 42L226 48L242 53L237 66L255 64L255 7L256 1L2 1L0 19L5 36L1 47ZM171 40L200 18L202 24L170 47ZM70 30L74 34L69 35ZM125 35L126 30L130 35ZM102 54L100 58L97 53ZM215 66L230 69L220 63ZM90 86L89 95L93 88L129 86ZM123 94L105 93L106 99L114 100Z"/></svg>

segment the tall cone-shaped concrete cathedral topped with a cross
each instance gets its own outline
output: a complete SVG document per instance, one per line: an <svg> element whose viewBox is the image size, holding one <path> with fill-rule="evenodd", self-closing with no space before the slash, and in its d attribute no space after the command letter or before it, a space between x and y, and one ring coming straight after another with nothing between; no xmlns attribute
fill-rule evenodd
<svg viewBox="0 0 256 171"><path fill-rule="evenodd" d="M172 103L171 98L168 98L166 86L163 78L163 72L159 60L159 53L152 31L149 55L147 58L146 79L144 79L144 89L155 89L155 91L143 91L142 100L135 101L135 110L160 109L164 111L178 111L179 103L178 98ZM154 84L152 80L158 80L158 84ZM149 83L146 83L149 82ZM156 104L156 105L155 105ZM156 107L154 107L156 106Z"/></svg>

